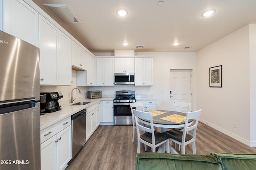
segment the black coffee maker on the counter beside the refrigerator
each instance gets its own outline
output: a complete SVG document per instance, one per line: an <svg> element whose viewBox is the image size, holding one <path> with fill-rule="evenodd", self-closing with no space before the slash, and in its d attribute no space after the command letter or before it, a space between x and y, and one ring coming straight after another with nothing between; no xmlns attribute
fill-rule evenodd
<svg viewBox="0 0 256 170"><path fill-rule="evenodd" d="M63 98L62 92L42 92L40 96L46 96L46 100L40 100L41 113L51 113L61 110L58 100Z"/></svg>

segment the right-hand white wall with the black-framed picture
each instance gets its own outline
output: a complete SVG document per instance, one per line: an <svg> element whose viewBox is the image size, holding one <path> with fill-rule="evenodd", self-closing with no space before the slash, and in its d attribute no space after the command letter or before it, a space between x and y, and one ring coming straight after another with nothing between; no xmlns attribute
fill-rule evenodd
<svg viewBox="0 0 256 170"><path fill-rule="evenodd" d="M247 145L250 145L251 117L249 43L247 25L196 54L200 120ZM209 68L218 65L222 65L222 88L210 88ZM238 123L237 128L234 122Z"/></svg>

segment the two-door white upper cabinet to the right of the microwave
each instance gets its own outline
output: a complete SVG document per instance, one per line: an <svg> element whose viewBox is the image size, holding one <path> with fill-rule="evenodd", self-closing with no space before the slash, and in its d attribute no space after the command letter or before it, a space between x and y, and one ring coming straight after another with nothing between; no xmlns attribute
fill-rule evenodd
<svg viewBox="0 0 256 170"><path fill-rule="evenodd" d="M153 85L153 58L135 58L135 86Z"/></svg>

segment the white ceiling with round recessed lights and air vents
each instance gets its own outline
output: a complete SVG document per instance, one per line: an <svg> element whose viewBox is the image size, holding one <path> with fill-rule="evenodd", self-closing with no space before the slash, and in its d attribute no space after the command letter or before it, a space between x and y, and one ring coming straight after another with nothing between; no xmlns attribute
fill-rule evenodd
<svg viewBox="0 0 256 170"><path fill-rule="evenodd" d="M92 53L198 51L256 23L256 0L32 0ZM82 23L63 23L42 4L69 4ZM120 17L118 9L128 15ZM206 10L216 12L202 17ZM123 46L126 41L128 46ZM172 43L180 42L174 46ZM242 42L241 42L242 43ZM144 49L135 49L144 45ZM192 48L184 49L186 46Z"/></svg>

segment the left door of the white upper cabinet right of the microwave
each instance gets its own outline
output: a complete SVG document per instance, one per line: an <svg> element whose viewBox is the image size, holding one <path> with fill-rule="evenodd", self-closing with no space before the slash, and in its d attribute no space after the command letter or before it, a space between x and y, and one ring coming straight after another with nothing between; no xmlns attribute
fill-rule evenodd
<svg viewBox="0 0 256 170"><path fill-rule="evenodd" d="M144 58L135 58L135 86L144 86Z"/></svg>

